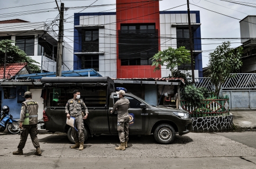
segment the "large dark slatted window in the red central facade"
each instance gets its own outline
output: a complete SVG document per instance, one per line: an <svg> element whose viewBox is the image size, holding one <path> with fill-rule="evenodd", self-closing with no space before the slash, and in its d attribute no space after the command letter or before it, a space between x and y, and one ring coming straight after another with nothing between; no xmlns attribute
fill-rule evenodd
<svg viewBox="0 0 256 169"><path fill-rule="evenodd" d="M151 65L158 52L158 30L152 24L121 24L119 59L121 66Z"/></svg>

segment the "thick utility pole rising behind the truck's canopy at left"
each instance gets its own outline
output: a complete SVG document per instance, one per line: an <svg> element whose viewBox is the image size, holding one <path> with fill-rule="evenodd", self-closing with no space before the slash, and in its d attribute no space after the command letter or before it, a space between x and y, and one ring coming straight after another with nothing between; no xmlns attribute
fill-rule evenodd
<svg viewBox="0 0 256 169"><path fill-rule="evenodd" d="M55 0L57 8L60 13L60 23L59 23L59 34L58 34L58 51L56 60L56 77L61 77L62 68L62 51L63 51L63 30L64 30L64 3L61 3L61 8L59 8L57 0Z"/></svg>

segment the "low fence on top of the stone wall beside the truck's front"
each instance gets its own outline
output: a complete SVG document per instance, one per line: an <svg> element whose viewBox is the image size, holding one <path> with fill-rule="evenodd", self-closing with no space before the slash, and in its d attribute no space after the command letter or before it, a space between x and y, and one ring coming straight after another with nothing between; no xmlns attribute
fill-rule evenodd
<svg viewBox="0 0 256 169"><path fill-rule="evenodd" d="M188 101L181 100L181 107L187 110L191 118L228 116L229 115L229 96L224 98L210 97L202 100L200 107L189 106Z"/></svg>

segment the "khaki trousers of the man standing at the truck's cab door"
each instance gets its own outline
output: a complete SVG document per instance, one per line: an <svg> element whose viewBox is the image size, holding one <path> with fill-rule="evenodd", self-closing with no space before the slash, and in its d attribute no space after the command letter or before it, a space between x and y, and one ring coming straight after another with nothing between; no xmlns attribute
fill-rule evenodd
<svg viewBox="0 0 256 169"><path fill-rule="evenodd" d="M118 121L118 135L120 143L125 143L129 140L129 118Z"/></svg>

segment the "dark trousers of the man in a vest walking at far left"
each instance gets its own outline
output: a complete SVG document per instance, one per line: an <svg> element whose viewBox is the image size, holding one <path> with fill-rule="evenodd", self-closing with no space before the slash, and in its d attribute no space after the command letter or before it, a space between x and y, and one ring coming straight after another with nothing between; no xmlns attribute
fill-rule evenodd
<svg viewBox="0 0 256 169"><path fill-rule="evenodd" d="M20 129L20 141L18 144L18 150L22 150L25 147L25 144L27 142L27 136L30 135L30 138L32 140L32 143L35 148L40 147L37 134L37 124L35 125L22 125L22 128Z"/></svg>

